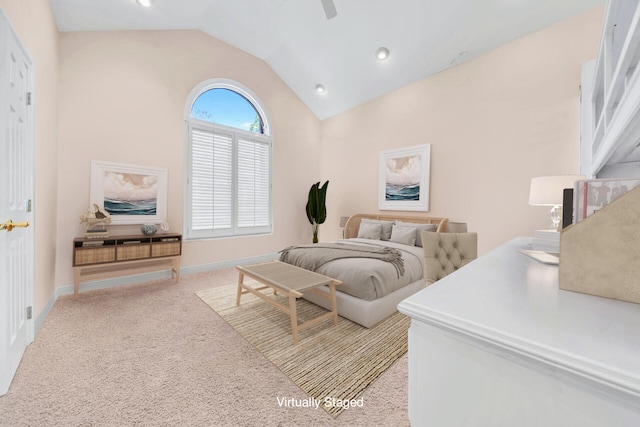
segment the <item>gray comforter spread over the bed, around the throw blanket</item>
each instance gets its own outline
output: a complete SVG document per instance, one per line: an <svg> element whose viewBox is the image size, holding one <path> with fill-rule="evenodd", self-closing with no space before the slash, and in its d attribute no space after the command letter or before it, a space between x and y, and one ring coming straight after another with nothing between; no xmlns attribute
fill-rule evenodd
<svg viewBox="0 0 640 427"><path fill-rule="evenodd" d="M393 248L393 252L400 254L404 268L403 274L398 274L399 272L393 262L371 257L344 257L322 262L322 265L314 268L314 271L320 274L342 281L342 285L336 288L341 292L372 301L410 283L422 280L424 252L421 247L357 238L341 240L340 242L348 243L349 245L361 245L365 250L366 248L378 250L381 248ZM385 250L382 252L385 252ZM326 254L322 254L321 251L321 256L326 257ZM305 254L304 257L307 257L307 255ZM287 262L286 258L282 260ZM290 263L295 265L295 262Z"/></svg>

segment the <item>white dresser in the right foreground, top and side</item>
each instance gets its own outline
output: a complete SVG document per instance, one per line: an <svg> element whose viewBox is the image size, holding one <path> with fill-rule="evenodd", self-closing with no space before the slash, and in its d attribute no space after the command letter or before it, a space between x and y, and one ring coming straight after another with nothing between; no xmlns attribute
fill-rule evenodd
<svg viewBox="0 0 640 427"><path fill-rule="evenodd" d="M640 305L559 290L530 241L399 304L412 426L640 426Z"/></svg>

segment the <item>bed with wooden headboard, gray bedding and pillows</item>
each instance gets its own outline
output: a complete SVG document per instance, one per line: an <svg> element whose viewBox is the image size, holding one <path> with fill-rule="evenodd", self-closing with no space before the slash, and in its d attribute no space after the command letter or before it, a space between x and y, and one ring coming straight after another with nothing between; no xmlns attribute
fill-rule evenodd
<svg viewBox="0 0 640 427"><path fill-rule="evenodd" d="M280 260L342 281L336 288L338 313L369 328L395 313L400 301L424 287L423 250L418 246L420 241L411 241L410 229L416 230L414 239L423 229L447 232L448 219L357 214L347 220L344 239L326 245L286 248L281 252ZM379 259L385 255L372 255L371 258L369 255L364 258L345 255L328 262L320 261L318 263L322 264L315 267L313 251L332 250L334 246L357 252L392 254L396 259ZM401 262L397 260L398 254ZM319 289L329 292L326 287ZM330 309L326 298L311 293L305 294L304 298Z"/></svg>

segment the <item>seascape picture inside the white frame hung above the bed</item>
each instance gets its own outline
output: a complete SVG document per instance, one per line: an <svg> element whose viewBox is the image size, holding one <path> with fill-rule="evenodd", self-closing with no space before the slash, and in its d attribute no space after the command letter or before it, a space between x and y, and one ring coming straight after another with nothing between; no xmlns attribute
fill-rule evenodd
<svg viewBox="0 0 640 427"><path fill-rule="evenodd" d="M385 200L420 200L422 162L420 156L397 157L386 160Z"/></svg>

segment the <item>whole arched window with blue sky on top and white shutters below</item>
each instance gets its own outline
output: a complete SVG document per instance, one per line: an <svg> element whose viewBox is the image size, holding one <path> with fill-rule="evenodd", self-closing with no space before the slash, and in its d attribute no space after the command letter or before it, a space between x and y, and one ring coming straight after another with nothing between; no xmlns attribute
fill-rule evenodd
<svg viewBox="0 0 640 427"><path fill-rule="evenodd" d="M214 79L185 106L187 239L270 233L271 146L262 102L239 83Z"/></svg>

